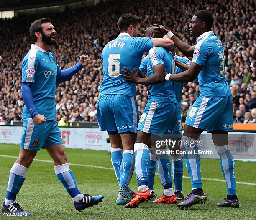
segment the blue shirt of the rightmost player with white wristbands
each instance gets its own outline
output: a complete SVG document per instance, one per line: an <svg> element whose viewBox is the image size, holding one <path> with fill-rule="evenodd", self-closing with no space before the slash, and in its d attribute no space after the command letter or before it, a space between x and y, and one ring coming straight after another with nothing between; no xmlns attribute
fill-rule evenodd
<svg viewBox="0 0 256 220"><path fill-rule="evenodd" d="M198 37L191 61L204 65L198 75L201 97L218 98L231 95L225 79L223 45L213 31L205 32Z"/></svg>

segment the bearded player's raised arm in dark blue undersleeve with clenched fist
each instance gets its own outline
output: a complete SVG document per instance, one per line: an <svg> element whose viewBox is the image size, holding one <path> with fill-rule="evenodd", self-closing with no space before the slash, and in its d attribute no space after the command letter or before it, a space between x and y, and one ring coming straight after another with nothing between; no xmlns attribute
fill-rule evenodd
<svg viewBox="0 0 256 220"><path fill-rule="evenodd" d="M82 70L83 67L86 67L90 62L91 60L88 55L80 56L80 60L76 65L60 71L60 73L57 75L57 83L62 83L69 80L73 75L75 75L79 70Z"/></svg>

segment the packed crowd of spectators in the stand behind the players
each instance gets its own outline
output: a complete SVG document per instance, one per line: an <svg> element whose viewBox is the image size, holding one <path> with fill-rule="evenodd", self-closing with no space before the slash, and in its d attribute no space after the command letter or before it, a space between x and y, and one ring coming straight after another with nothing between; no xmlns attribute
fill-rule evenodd
<svg viewBox="0 0 256 220"><path fill-rule="evenodd" d="M141 32L160 23L180 33L182 40L195 44L188 25L197 10L210 10L213 30L225 49L226 80L233 97L234 123L256 122L255 2L253 0L127 0L100 2L91 8L46 15L55 26L57 45L51 48L61 68L71 67L79 56L88 54L92 63L69 82L57 85L56 120L97 121L97 100L102 82L100 55L106 43L118 36L117 21L123 13L141 15ZM124 10L125 9L125 10ZM31 46L29 26L41 18L19 15L0 20L0 120L21 120L21 61ZM81 19L82 18L82 19ZM232 37L234 36L234 37ZM179 55L182 55L179 53ZM189 57L191 58L191 57ZM199 96L197 80L185 83L182 91L182 121ZM148 102L147 88L138 85L136 98L141 114ZM65 115L65 116L64 116Z"/></svg>

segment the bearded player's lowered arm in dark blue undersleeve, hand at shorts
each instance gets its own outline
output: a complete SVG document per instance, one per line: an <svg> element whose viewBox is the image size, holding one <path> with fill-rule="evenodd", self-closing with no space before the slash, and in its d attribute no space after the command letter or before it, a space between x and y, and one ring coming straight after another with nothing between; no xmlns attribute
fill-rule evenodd
<svg viewBox="0 0 256 220"><path fill-rule="evenodd" d="M21 86L22 97L26 107L28 108L29 114L33 119L33 122L36 125L41 125L46 122L46 118L44 117L44 115L40 115L37 113L37 110L35 108L34 101L33 101L33 96L31 93L31 88L30 88L31 85L32 85L31 82L22 82L22 86Z"/></svg>

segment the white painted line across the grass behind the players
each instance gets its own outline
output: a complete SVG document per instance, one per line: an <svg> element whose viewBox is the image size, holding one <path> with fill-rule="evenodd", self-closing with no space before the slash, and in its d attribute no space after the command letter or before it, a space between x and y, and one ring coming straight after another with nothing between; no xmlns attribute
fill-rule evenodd
<svg viewBox="0 0 256 220"><path fill-rule="evenodd" d="M1 155L0 157L4 158L18 158L15 156L9 156L9 155ZM39 162L46 162L46 163L53 163L52 160L39 160L39 159L34 159L34 161L39 161ZM113 170L113 168L108 168L108 167L101 167L101 166L93 166L93 165L85 165L85 164L77 164L77 163L69 163L69 165L74 165L74 166L80 166L80 167L90 167L90 168L97 168L97 169L105 169L105 170ZM159 175L156 173L156 175ZM188 176L183 176L183 178L190 179ZM225 180L220 180L216 178L202 178L202 180L210 180L210 181L216 181L216 182L226 182ZM256 185L256 183L247 183L247 182L236 182L237 184L244 184L244 185Z"/></svg>

